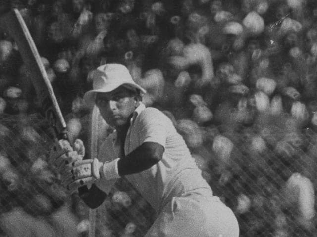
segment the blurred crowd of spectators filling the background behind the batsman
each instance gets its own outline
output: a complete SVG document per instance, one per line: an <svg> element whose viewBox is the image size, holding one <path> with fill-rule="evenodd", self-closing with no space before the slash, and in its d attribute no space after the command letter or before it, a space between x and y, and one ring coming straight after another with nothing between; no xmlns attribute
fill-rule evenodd
<svg viewBox="0 0 317 237"><path fill-rule="evenodd" d="M13 7L71 140L88 142L82 96L94 70L124 64L234 210L241 237L316 236L316 0L1 0L0 14ZM30 70L0 31L0 236L27 233L20 222L38 226L33 236L87 236L87 207L47 164L52 134ZM142 236L151 208L127 183L116 187L96 235Z"/></svg>

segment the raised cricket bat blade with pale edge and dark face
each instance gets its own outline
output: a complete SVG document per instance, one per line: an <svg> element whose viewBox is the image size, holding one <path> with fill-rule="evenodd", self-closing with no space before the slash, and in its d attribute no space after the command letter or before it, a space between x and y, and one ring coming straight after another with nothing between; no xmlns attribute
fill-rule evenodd
<svg viewBox="0 0 317 237"><path fill-rule="evenodd" d="M32 39L32 36L17 9L0 17L1 28L16 42L23 62L31 73L37 99L42 107L44 117L54 129L57 139L67 139L66 123L56 100L52 85Z"/></svg>

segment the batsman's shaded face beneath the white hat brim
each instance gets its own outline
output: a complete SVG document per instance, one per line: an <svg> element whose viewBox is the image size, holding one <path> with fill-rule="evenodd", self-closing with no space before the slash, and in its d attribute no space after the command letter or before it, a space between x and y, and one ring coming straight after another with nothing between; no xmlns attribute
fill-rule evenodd
<svg viewBox="0 0 317 237"><path fill-rule="evenodd" d="M98 93L95 102L101 116L115 128L130 122L129 119L138 106L136 94L122 86L111 92Z"/></svg>

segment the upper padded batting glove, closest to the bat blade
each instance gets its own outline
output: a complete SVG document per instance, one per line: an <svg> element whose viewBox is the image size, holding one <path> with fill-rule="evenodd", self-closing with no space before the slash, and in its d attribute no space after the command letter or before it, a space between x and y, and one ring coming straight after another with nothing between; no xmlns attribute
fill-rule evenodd
<svg viewBox="0 0 317 237"><path fill-rule="evenodd" d="M82 140L76 139L73 148L67 140L59 140L53 144L50 150L49 164L59 173L63 173L66 165L83 160L84 156L85 146Z"/></svg>

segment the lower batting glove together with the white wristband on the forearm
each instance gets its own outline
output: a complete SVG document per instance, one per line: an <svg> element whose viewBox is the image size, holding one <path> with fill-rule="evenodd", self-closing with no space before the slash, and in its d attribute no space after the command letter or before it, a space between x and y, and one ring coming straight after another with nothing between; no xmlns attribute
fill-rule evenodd
<svg viewBox="0 0 317 237"><path fill-rule="evenodd" d="M118 160L119 158L106 163L100 162L97 158L75 161L72 167L70 165L66 166L68 171L63 175L62 185L72 193L79 187L84 185L89 187L100 179L112 180L120 178Z"/></svg>

